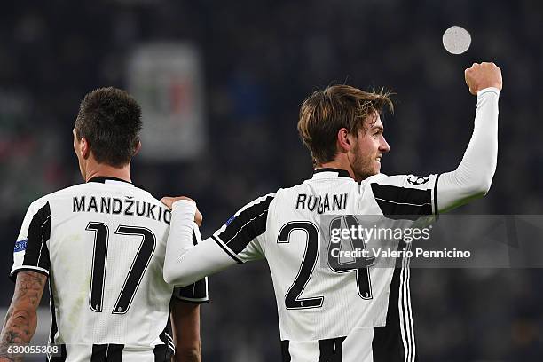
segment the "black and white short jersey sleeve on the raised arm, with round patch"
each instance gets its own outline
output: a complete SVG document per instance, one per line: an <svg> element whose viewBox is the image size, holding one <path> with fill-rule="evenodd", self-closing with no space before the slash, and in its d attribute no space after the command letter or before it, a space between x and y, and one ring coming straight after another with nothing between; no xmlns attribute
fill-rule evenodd
<svg viewBox="0 0 543 362"><path fill-rule="evenodd" d="M385 216L437 215L439 175L378 175L369 179L374 199Z"/></svg>

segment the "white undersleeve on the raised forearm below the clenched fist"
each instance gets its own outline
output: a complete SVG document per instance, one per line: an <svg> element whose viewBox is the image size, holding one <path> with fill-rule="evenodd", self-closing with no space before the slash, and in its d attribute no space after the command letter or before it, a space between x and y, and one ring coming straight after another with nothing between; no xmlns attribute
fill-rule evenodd
<svg viewBox="0 0 543 362"><path fill-rule="evenodd" d="M457 169L437 181L439 212L488 193L498 160L498 99L496 89L479 91L474 130L464 157Z"/></svg>

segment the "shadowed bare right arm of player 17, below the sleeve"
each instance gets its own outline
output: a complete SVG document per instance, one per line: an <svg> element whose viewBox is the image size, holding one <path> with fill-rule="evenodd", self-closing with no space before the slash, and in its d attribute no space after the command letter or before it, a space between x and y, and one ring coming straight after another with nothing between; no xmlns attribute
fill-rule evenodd
<svg viewBox="0 0 543 362"><path fill-rule="evenodd" d="M200 305L171 301L171 327L176 355L175 362L201 362Z"/></svg>

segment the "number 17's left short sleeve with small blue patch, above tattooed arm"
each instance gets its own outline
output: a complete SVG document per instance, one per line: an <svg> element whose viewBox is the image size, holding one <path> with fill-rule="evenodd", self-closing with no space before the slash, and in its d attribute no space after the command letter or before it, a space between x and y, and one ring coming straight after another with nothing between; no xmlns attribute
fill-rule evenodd
<svg viewBox="0 0 543 362"><path fill-rule="evenodd" d="M30 205L13 248L10 278L19 271L36 271L49 276L51 262L47 241L51 238L51 209L49 202L40 209Z"/></svg>

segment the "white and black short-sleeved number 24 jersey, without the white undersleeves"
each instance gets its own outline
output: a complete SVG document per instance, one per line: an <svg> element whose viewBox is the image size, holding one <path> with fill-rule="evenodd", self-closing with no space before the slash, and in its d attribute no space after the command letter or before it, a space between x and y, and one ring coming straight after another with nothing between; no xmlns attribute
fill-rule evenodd
<svg viewBox="0 0 543 362"><path fill-rule="evenodd" d="M321 260L327 215L417 216L437 212L437 175L318 169L301 185L249 203L212 236L237 263L265 258L279 311L283 362L415 359L408 260L337 270ZM175 209L174 209L175 210ZM329 220L329 218L328 218ZM173 230L173 228L172 228ZM395 248L408 248L398 240Z"/></svg>

